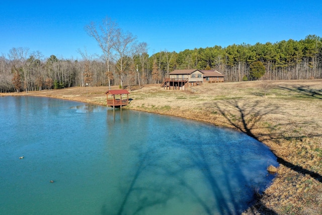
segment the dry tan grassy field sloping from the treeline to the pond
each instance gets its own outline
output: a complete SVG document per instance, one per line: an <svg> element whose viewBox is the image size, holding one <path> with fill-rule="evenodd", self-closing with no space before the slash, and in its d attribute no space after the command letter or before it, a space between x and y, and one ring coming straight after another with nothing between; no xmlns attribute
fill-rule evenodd
<svg viewBox="0 0 322 215"><path fill-rule="evenodd" d="M116 88L115 88L116 89ZM107 87L0 95L106 105ZM266 93L266 96L265 96ZM187 91L132 87L129 109L231 127L270 147L280 166L245 214L322 214L322 80L204 83ZM269 165L268 165L269 166Z"/></svg>

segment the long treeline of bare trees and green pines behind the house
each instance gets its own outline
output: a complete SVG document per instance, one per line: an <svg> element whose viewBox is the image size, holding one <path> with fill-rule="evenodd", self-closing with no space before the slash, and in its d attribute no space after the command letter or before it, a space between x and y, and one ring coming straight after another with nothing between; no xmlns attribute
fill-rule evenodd
<svg viewBox="0 0 322 215"><path fill-rule="evenodd" d="M133 43L126 55L114 55L114 58L79 53L82 59L59 59L54 55L44 58L39 51L12 48L0 56L0 92L73 86L130 88L161 83L174 69L191 68L216 69L226 82L322 78L322 39L316 35L300 41L233 44L179 53L164 50L151 56L147 54L146 43ZM260 77L252 76L252 66L259 62L264 73Z"/></svg>

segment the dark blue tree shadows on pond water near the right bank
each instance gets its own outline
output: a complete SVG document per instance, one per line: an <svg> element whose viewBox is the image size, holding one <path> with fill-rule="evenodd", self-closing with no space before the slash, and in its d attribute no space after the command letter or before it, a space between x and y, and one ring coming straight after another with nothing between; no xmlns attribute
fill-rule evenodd
<svg viewBox="0 0 322 215"><path fill-rule="evenodd" d="M183 141L184 142L184 141ZM197 145L200 142L196 143ZM225 148L224 142L214 142L215 145L222 145ZM222 148L220 152L211 152L209 149L198 148L194 150L193 148L181 145L181 147L186 147L189 153L193 158L193 165L190 167L192 169L201 170L202 178L204 182L210 187L211 198L214 199L213 202L209 199L202 199L198 196L197 190L189 186L178 177L178 181L187 188L197 201L202 205L206 214L240 214L248 206L251 206L251 203L257 198L257 187L248 187L256 185L247 185L249 178L245 175L243 167L240 163L240 157L243 155L236 156L234 153L225 153ZM215 157L216 162L213 163L209 157ZM226 163L233 162L234 171L231 172L232 166L227 165ZM212 165L217 165L216 169L218 172L214 172ZM187 167L183 167L187 169ZM219 171L219 169L221 169ZM222 172L223 174L220 174ZM233 174L233 175L231 175ZM236 188L240 188L236 190ZM241 192L241 193L240 193ZM253 193L254 192L254 193ZM250 194L251 193L251 194ZM253 196L252 196L253 195ZM242 200L247 199L247 202ZM274 211L266 208L266 211L269 211L270 214L276 214Z"/></svg>

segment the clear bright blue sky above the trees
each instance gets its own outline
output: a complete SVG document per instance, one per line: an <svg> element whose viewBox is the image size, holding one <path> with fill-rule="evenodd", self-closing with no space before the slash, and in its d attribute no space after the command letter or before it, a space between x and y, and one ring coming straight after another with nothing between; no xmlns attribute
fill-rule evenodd
<svg viewBox="0 0 322 215"><path fill-rule="evenodd" d="M322 37L322 1L1 1L0 55L13 47L45 57L101 54L84 26L104 18L159 51Z"/></svg>

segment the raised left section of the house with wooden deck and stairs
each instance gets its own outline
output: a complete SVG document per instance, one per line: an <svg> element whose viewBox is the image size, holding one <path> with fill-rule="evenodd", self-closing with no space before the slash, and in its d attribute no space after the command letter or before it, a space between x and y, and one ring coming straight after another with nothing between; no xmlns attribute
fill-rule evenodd
<svg viewBox="0 0 322 215"><path fill-rule="evenodd" d="M185 90L186 86L198 86L203 82L203 74L199 69L177 69L169 73L161 87L174 90Z"/></svg>

